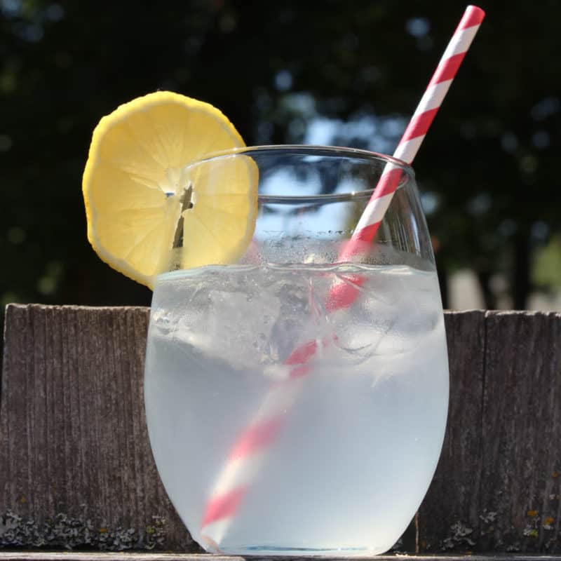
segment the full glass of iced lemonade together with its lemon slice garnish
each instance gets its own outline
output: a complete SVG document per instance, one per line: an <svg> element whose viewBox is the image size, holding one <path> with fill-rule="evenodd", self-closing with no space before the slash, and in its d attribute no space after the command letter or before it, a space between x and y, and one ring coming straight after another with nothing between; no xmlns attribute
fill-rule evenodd
<svg viewBox="0 0 561 561"><path fill-rule="evenodd" d="M410 166L246 148L215 107L156 92L97 125L83 196L97 254L154 289L149 436L194 539L241 555L391 548L448 398Z"/></svg>

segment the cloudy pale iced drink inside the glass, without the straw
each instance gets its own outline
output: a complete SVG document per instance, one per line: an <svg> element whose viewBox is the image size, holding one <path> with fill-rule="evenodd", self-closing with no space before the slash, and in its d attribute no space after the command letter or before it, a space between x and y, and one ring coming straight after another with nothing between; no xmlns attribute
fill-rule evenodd
<svg viewBox="0 0 561 561"><path fill-rule="evenodd" d="M334 283L365 279L327 313ZM277 438L219 544L224 553L371 555L410 522L440 454L447 350L434 271L410 266L222 266L167 273L152 302L149 435L196 541L233 442L320 341ZM243 475L242 475L243 476Z"/></svg>

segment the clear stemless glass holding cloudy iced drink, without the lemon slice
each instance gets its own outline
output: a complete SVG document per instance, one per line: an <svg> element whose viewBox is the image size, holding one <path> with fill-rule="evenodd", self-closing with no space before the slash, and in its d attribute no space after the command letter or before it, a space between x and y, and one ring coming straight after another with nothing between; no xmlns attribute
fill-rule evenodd
<svg viewBox="0 0 561 561"><path fill-rule="evenodd" d="M245 255L156 280L145 400L158 472L207 550L383 553L426 493L447 417L414 173L372 152L297 146L238 149L185 173L223 181L239 158L259 170ZM340 262L388 162L400 184L376 237ZM352 301L337 304L337 290Z"/></svg>

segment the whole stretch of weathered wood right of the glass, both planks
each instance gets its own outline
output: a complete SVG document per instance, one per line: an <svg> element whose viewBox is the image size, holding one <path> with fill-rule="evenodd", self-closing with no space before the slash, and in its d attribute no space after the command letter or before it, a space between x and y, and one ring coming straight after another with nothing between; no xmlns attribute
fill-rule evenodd
<svg viewBox="0 0 561 561"><path fill-rule="evenodd" d="M450 412L420 551L561 552L561 314L447 313Z"/></svg>

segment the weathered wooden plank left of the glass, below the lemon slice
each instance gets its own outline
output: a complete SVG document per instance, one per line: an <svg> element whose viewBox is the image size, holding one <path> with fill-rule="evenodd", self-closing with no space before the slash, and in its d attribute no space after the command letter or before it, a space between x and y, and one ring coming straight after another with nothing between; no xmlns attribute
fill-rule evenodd
<svg viewBox="0 0 561 561"><path fill-rule="evenodd" d="M148 309L6 309L0 546L198 550L144 420Z"/></svg>

